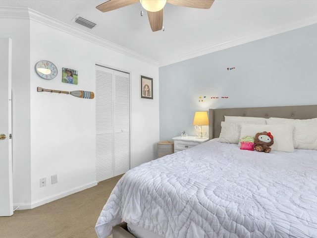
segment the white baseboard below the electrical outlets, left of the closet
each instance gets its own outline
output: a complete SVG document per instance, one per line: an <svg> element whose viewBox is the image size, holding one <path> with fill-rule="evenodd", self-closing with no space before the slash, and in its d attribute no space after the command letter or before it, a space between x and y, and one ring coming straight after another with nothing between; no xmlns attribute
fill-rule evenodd
<svg viewBox="0 0 317 238"><path fill-rule="evenodd" d="M98 184L97 181L93 181L93 182L87 183L85 185L82 185L82 186L79 186L79 187L75 187L75 188L66 190L64 192L60 192L60 193L54 194L52 196L49 196L49 197L34 201L31 204L30 203L14 203L13 207L18 207L16 210L32 209L32 208L44 205L44 204L49 203L49 202L53 202L53 201L55 201L55 200L57 200L59 198L63 198L63 197L66 197L68 195L71 195L73 193L80 192L80 191L85 190L87 188L96 186L97 184Z"/></svg>

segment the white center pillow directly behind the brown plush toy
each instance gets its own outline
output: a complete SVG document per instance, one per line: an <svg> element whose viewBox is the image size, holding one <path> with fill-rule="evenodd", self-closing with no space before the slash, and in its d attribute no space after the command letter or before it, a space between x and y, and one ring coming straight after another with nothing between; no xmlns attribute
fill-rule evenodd
<svg viewBox="0 0 317 238"><path fill-rule="evenodd" d="M241 124L240 139L245 136L255 137L258 132L266 131L271 132L274 139L274 144L271 150L294 152L293 145L293 125L254 125L254 124Z"/></svg>

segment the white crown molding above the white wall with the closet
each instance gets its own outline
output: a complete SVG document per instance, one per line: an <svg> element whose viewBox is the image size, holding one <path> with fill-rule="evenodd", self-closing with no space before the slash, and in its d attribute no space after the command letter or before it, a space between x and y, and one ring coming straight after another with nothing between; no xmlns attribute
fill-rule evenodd
<svg viewBox="0 0 317 238"><path fill-rule="evenodd" d="M144 61L146 63L150 63L156 67L159 67L159 61L153 60L149 57L141 55L137 52L126 49L122 46L114 44L110 41L106 41L101 37L90 34L81 29L75 28L74 26L68 25L64 22L58 21L52 17L46 16L40 12L32 10L26 7L0 7L0 18L14 18L14 19L30 19L32 21L44 24L46 26L50 26L54 29L63 31L65 33L71 34L78 38L84 39L91 43L97 44L99 46L105 47L109 50L118 52L125 56L131 57L135 60Z"/></svg>

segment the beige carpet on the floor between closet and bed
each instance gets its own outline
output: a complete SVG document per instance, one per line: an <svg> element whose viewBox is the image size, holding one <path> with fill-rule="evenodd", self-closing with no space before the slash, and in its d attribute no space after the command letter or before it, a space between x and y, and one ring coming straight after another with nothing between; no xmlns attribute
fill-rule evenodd
<svg viewBox="0 0 317 238"><path fill-rule="evenodd" d="M117 176L45 205L0 217L0 238L97 238L95 224Z"/></svg>

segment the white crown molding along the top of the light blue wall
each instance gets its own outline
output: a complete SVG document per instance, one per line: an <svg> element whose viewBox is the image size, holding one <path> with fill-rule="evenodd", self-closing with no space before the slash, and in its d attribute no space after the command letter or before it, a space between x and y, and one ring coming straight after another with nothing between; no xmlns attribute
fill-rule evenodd
<svg viewBox="0 0 317 238"><path fill-rule="evenodd" d="M189 60L189 59L196 58L199 56L207 55L207 54L210 54L210 53L213 53L216 51L221 51L221 50L228 49L228 48L231 48L234 46L238 46L238 45L242 45L242 44L249 43L252 41L264 39L266 37L274 36L274 35L284 33L287 31L292 31L292 30L299 29L299 28L309 26L309 25L313 25L316 23L317 23L317 15L312 15L306 19L303 19L303 20L295 22L295 23L285 24L283 26L279 26L279 27L275 27L275 28L272 28L269 30L261 31L261 32L258 32L258 33L252 34L252 35L236 38L234 40L230 40L230 41L223 42L223 43L220 43L220 44L217 44L217 45L214 45L211 47L207 47L204 49L200 49L200 50L188 53L188 54L174 57L174 58L171 58L169 60L161 61L159 63L159 67L166 66L166 65L169 65L172 63L177 63L177 62L184 61L184 60Z"/></svg>

